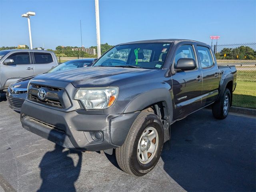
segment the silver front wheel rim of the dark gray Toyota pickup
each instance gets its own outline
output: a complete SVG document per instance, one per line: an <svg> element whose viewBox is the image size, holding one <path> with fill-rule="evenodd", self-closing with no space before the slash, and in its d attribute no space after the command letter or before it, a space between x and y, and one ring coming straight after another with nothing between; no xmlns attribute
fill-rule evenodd
<svg viewBox="0 0 256 192"><path fill-rule="evenodd" d="M155 156L158 148L159 136L156 128L148 127L141 134L138 147L137 158L142 164L148 164Z"/></svg>

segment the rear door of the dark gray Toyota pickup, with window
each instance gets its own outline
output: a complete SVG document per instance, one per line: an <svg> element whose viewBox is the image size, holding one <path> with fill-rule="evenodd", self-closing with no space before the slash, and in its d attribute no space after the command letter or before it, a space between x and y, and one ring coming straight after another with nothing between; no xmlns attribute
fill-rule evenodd
<svg viewBox="0 0 256 192"><path fill-rule="evenodd" d="M206 106L218 97L220 74L217 64L214 63L211 49L203 45L197 45L196 48L203 76L202 106Z"/></svg>

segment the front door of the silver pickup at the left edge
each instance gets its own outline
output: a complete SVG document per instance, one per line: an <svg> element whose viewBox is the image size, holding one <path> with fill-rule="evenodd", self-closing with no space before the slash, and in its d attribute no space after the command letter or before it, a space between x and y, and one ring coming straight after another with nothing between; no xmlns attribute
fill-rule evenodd
<svg viewBox="0 0 256 192"><path fill-rule="evenodd" d="M13 59L14 63L11 65L1 64L3 87L16 82L17 80L34 75L34 64L29 52L16 52L7 57Z"/></svg>

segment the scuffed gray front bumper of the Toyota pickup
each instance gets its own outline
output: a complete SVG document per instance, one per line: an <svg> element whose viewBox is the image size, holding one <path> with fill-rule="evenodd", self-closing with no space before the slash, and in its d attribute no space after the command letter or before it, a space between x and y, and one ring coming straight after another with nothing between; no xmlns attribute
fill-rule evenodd
<svg viewBox="0 0 256 192"><path fill-rule="evenodd" d="M60 146L100 151L121 146L138 114L62 112L26 100L20 118L26 130Z"/></svg>

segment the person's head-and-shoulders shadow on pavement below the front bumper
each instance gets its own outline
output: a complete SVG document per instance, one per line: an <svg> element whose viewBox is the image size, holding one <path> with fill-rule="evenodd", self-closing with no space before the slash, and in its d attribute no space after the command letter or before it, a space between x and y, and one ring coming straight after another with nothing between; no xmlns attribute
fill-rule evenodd
<svg viewBox="0 0 256 192"><path fill-rule="evenodd" d="M68 156L70 154L78 155L76 165ZM38 191L76 191L74 182L78 179L81 165L82 152L67 150L55 144L55 149L46 152L40 162L42 185Z"/></svg>

